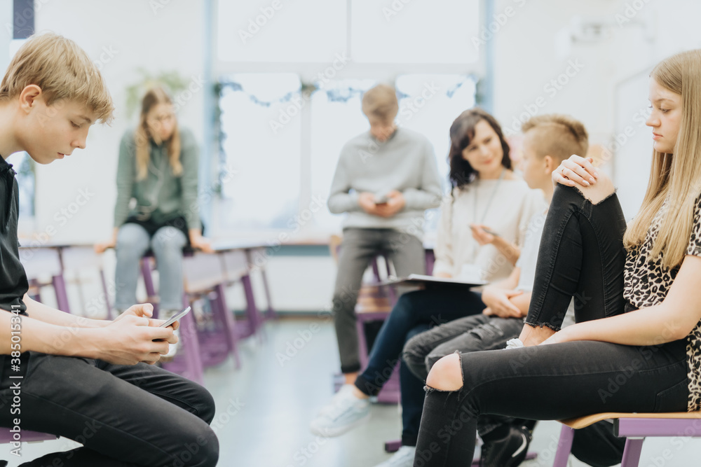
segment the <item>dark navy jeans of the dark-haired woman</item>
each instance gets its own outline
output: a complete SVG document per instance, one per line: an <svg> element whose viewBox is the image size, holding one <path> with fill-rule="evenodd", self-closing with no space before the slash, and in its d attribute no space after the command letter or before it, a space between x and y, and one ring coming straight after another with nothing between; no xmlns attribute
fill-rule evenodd
<svg viewBox="0 0 701 467"><path fill-rule="evenodd" d="M372 346L367 368L358 375L355 386L374 396L392 375L404 344L433 324L445 323L469 314L482 312L482 295L467 288L441 287L405 293L383 323ZM423 379L414 376L407 364L400 365L402 393L402 444L416 445L421 422Z"/></svg>

